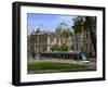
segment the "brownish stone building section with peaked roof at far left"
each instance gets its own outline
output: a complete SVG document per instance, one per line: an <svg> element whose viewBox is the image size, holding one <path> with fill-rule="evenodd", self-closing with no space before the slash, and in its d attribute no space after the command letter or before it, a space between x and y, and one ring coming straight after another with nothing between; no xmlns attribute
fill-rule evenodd
<svg viewBox="0 0 108 88"><path fill-rule="evenodd" d="M35 55L37 53L40 52L45 52L48 49L48 35L43 32L40 32L40 29L38 28L36 32L32 32L32 34L29 36L28 39L29 43L28 48L32 58L35 58Z"/></svg>

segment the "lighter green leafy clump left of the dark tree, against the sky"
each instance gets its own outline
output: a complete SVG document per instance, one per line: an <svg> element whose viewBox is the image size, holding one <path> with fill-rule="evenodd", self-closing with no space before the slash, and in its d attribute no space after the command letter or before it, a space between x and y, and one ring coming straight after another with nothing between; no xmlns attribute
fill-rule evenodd
<svg viewBox="0 0 108 88"><path fill-rule="evenodd" d="M73 26L72 29L75 33L81 33L81 27L84 26L84 16L77 16L73 18Z"/></svg>

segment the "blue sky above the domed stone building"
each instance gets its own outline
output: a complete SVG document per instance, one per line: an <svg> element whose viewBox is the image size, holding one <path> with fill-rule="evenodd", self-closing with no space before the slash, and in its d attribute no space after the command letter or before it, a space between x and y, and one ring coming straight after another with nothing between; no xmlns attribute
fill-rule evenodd
<svg viewBox="0 0 108 88"><path fill-rule="evenodd" d="M32 30L37 30L38 27L45 32L55 32L56 27L64 21L69 27L73 25L72 18L75 16L70 15L55 15L55 14L27 14L28 30L27 34L30 35Z"/></svg>

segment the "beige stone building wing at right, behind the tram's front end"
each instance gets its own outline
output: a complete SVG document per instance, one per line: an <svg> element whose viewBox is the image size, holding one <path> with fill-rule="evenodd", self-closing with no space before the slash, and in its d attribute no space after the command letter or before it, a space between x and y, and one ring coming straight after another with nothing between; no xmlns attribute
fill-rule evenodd
<svg viewBox="0 0 108 88"><path fill-rule="evenodd" d="M90 30L84 30L83 38L82 33L73 35L73 51L83 51L91 56L95 56L95 51L90 36Z"/></svg>

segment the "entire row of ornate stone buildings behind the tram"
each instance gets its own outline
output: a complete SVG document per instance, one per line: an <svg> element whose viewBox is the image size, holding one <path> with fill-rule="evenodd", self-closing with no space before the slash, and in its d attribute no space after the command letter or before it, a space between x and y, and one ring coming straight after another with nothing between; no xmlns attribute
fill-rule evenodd
<svg viewBox="0 0 108 88"><path fill-rule="evenodd" d="M95 24L93 27L94 30L96 30ZM64 28L64 26L62 26L62 28ZM90 29L84 29L83 33L72 34L68 38L65 38L56 35L56 33L41 32L38 28L27 37L27 40L28 59L29 56L35 58L41 52L52 52L52 46L62 46L63 43L68 46L68 52L83 51L86 52L90 56L96 58L96 53L90 36Z"/></svg>

